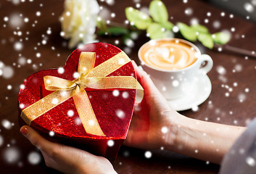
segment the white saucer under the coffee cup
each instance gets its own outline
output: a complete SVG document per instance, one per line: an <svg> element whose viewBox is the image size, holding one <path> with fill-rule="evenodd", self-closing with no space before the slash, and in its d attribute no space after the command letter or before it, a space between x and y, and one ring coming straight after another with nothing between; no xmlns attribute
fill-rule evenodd
<svg viewBox="0 0 256 174"><path fill-rule="evenodd" d="M200 78L195 80L191 91L193 93L186 94L179 99L168 100L170 106L176 109L176 111L183 111L202 104L212 91L212 83L208 76L206 74L200 75Z"/></svg>

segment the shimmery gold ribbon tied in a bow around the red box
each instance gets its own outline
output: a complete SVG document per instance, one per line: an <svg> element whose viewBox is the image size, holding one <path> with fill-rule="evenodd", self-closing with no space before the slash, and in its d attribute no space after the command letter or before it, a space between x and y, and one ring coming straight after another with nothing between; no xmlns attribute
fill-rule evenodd
<svg viewBox="0 0 256 174"><path fill-rule="evenodd" d="M111 59L94 67L94 52L81 52L78 62L78 75L75 80L66 80L54 76L44 76L44 86L53 93L36 101L21 112L21 117L30 125L37 117L44 115L57 105L73 97L75 107L78 111L83 128L86 133L96 136L105 136L91 107L84 88L107 89L107 88L129 88L137 89L139 96L143 96L143 88L136 78L132 76L111 76L106 77L118 68L122 67L131 59L121 51Z"/></svg>

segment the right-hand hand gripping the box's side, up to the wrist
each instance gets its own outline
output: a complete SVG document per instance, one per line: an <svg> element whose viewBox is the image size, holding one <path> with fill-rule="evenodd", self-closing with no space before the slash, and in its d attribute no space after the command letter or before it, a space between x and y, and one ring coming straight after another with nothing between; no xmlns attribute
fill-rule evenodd
<svg viewBox="0 0 256 174"><path fill-rule="evenodd" d="M141 149L169 146L175 138L176 120L181 120L183 116L170 107L149 75L140 70L134 61L133 67L144 88L144 99L136 104L125 145Z"/></svg>

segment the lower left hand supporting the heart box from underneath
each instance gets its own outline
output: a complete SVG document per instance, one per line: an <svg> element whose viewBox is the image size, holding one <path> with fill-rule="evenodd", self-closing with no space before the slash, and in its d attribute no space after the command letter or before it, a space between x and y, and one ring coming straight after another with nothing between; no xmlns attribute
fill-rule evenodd
<svg viewBox="0 0 256 174"><path fill-rule="evenodd" d="M20 132L41 150L48 167L62 173L116 173L110 161L104 157L71 146L52 143L27 125L22 126Z"/></svg>

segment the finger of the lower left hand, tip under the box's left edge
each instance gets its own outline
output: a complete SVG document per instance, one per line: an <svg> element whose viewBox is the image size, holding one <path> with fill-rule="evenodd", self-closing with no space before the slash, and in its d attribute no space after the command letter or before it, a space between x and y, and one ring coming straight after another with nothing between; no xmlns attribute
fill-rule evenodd
<svg viewBox="0 0 256 174"><path fill-rule="evenodd" d="M30 128L28 125L22 126L22 128L20 128L20 133L28 138L31 144L36 146L38 149L44 150L45 152L49 152L54 145L54 143L51 143L50 141L40 136L36 130Z"/></svg>

